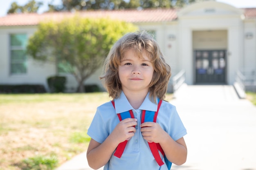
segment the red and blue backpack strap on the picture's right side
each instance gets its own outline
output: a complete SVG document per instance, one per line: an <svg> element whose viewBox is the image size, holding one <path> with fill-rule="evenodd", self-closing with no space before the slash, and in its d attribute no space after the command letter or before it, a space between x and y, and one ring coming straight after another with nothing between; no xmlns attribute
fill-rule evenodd
<svg viewBox="0 0 256 170"><path fill-rule="evenodd" d="M141 116L141 123L144 123L145 121L153 121L156 122L157 121L157 115L158 115L158 111L159 108L162 104L162 100L159 100L158 105L157 105L157 111L156 112L152 112L152 111L142 111L142 116ZM162 153L162 155L164 155L164 151L161 148L159 143L155 143L155 142L148 142L148 146L155 158L155 160L157 161L159 166L164 165L164 162L162 161L158 150L160 150L160 152Z"/></svg>

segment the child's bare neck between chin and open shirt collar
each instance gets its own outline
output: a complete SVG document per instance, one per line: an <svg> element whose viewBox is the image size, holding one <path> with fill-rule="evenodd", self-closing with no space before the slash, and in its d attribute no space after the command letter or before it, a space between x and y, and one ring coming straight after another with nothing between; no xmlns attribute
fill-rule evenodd
<svg viewBox="0 0 256 170"><path fill-rule="evenodd" d="M143 92L125 92L124 94L126 95L126 98L128 99L130 105L134 108L134 109L138 109L139 106L141 106L141 104L143 103L146 95L148 94L148 91L143 91Z"/></svg>

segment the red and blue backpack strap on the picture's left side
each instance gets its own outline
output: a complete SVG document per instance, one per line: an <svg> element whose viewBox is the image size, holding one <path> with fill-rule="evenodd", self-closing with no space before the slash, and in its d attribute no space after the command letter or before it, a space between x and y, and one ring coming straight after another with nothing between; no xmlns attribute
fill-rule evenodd
<svg viewBox="0 0 256 170"><path fill-rule="evenodd" d="M115 108L115 102L113 100L111 102L112 102L112 105ZM117 116L118 116L120 121L123 120L123 119L126 119L126 118L134 118L132 110L129 110L129 111L126 111L126 112L123 112L123 113L118 113ZM127 142L128 142L128 140L125 140L125 141L121 142L120 144L118 144L117 149L114 153L114 156L116 156L118 158L121 158L121 156L124 153L124 148L126 147Z"/></svg>

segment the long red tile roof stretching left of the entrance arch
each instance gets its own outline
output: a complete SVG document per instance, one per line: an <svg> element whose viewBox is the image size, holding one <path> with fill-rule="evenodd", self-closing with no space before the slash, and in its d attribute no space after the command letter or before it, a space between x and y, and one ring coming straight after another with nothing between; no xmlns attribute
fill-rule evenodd
<svg viewBox="0 0 256 170"><path fill-rule="evenodd" d="M144 10L97 10L82 11L77 13L83 17L110 17L112 19L124 20L126 22L164 22L177 18L177 11L174 9L144 9ZM37 25L45 20L61 20L72 17L75 13L54 12L54 13L20 13L9 14L0 18L0 26L25 26Z"/></svg>

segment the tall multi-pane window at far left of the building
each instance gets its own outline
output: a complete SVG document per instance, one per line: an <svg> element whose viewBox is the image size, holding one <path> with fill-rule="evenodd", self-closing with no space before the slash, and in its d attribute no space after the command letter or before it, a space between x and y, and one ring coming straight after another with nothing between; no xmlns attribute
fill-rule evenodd
<svg viewBox="0 0 256 170"><path fill-rule="evenodd" d="M26 34L11 34L10 35L11 47L11 74L24 74L27 73L27 35Z"/></svg>

